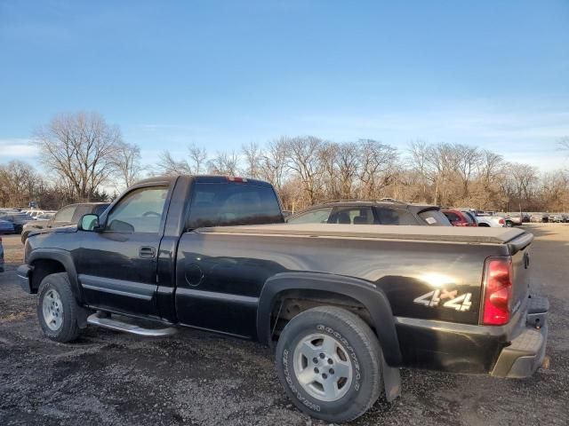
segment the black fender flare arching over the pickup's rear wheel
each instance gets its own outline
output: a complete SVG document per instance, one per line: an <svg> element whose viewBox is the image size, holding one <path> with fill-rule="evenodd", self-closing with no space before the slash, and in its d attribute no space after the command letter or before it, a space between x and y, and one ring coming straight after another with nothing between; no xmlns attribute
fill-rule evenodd
<svg viewBox="0 0 569 426"><path fill-rule="evenodd" d="M363 304L373 320L383 356L389 366L401 364L395 320L387 296L372 282L328 273L283 272L269 278L260 292L257 311L257 336L270 344L270 315L278 295L286 290L309 289L349 296Z"/></svg>

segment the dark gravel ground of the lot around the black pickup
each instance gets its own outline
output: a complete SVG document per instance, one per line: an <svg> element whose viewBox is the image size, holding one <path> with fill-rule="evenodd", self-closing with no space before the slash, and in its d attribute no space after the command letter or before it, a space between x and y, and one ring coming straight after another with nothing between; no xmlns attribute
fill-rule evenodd
<svg viewBox="0 0 569 426"><path fill-rule="evenodd" d="M568 424L569 225L528 225L536 291L549 295L551 365L516 381L402 370L403 396L353 424ZM36 296L20 291L19 236L0 273L2 425L324 425L297 411L259 344L183 329L144 339L89 327L73 344L45 339Z"/></svg>

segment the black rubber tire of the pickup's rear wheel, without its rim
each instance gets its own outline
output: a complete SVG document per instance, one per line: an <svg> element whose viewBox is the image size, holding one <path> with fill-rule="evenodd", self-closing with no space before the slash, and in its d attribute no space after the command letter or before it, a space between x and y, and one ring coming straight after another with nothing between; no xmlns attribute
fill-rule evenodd
<svg viewBox="0 0 569 426"><path fill-rule="evenodd" d="M349 385L344 384L347 386L344 390L346 393L336 400L315 398L303 388L297 378L295 362L299 361L294 358L297 353L295 350L297 345L306 342L313 335L332 337L341 350L349 354L351 382ZM362 319L341 308L320 306L301 312L284 327L276 345L276 371L288 397L302 412L326 422L349 422L364 414L380 397L383 390L381 356L377 337ZM317 361L320 362L315 357L315 366ZM307 362L312 360L307 359ZM325 371L329 362L329 359L323 358L322 364L325 367L321 366L322 370L315 367L314 371ZM310 364L306 368L312 367L314 366ZM314 383L309 383L309 386ZM335 384L337 389L340 382Z"/></svg>

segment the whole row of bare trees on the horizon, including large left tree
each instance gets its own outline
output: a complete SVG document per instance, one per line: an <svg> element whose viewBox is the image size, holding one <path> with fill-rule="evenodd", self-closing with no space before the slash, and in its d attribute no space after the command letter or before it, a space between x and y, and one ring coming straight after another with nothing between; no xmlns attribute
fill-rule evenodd
<svg viewBox="0 0 569 426"><path fill-rule="evenodd" d="M215 153L192 144L182 158L164 151L143 172L140 147L126 143L100 114L60 114L38 128L33 140L44 172L24 162L0 164L0 206L37 201L43 209L58 209L76 201L108 201L146 175L210 173L266 180L291 210L381 198L502 211L569 210L566 170L540 173L460 143L417 139L397 149L371 138L334 142L302 136ZM569 152L569 138L558 148Z"/></svg>

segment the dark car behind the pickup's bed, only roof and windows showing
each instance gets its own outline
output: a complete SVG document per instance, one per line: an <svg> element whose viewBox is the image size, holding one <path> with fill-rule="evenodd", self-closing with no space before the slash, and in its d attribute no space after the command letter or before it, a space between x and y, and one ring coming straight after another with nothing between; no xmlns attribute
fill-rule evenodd
<svg viewBox="0 0 569 426"><path fill-rule="evenodd" d="M432 225L451 224L437 206L403 201L333 201L286 218L289 224Z"/></svg>

